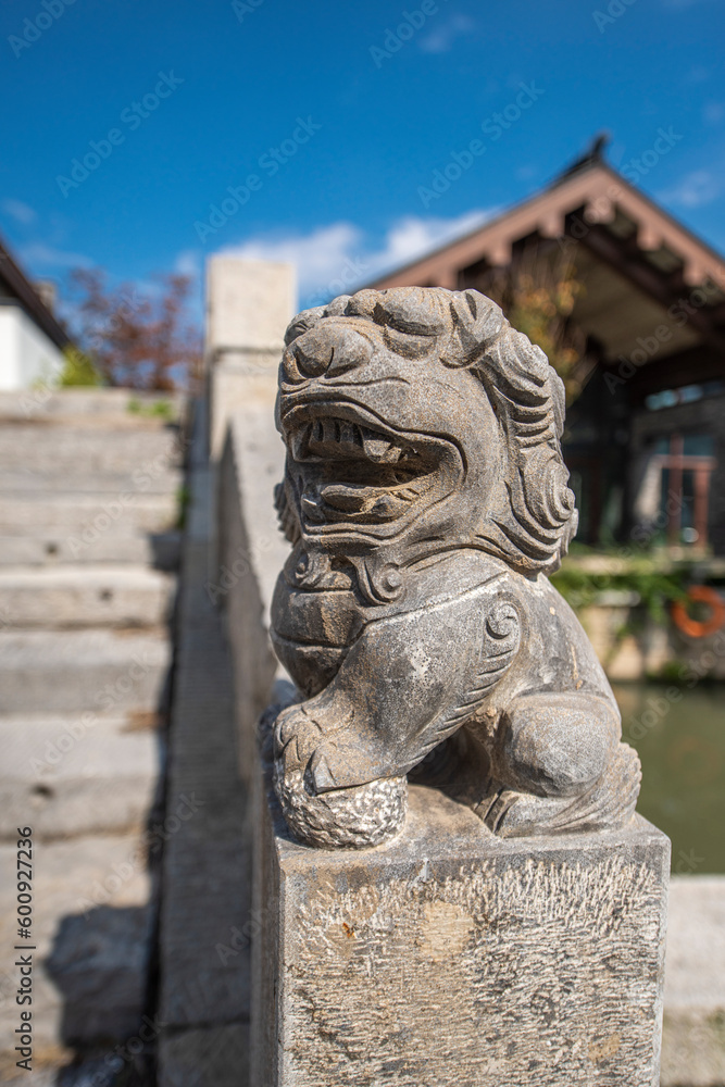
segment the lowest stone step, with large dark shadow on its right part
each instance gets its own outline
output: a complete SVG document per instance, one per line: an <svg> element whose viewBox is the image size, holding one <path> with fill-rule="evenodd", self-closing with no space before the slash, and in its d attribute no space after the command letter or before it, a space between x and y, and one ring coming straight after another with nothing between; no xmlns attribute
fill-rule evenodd
<svg viewBox="0 0 725 1087"><path fill-rule="evenodd" d="M21 824L22 826L28 824ZM0 940L17 940L15 842L0 845ZM108 1054L138 1034L152 932L150 877L137 834L93 835L42 844L34 850L33 1073L72 1055L62 1039L97 1045ZM15 1067L21 1009L17 967L8 952L0 965L0 1078ZM121 1050L123 1052L123 1050ZM102 1065L108 1071L109 1065ZM36 1072L36 1069L38 1070ZM54 1077L53 1083L58 1083ZM108 1084L107 1077L86 1084Z"/></svg>

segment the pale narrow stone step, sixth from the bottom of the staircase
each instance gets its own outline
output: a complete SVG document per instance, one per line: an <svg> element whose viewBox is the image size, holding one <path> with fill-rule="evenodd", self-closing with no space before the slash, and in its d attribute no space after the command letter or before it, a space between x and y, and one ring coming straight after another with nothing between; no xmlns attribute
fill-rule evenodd
<svg viewBox="0 0 725 1087"><path fill-rule="evenodd" d="M102 535L135 536L139 532L160 533L174 528L178 517L178 496L0 493L0 536L73 536L77 547Z"/></svg>

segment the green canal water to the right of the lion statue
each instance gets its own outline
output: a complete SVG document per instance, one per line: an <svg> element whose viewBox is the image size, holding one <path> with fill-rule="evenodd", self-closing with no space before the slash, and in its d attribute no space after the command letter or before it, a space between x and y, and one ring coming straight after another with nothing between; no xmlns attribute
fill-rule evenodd
<svg viewBox="0 0 725 1087"><path fill-rule="evenodd" d="M672 871L725 873L725 684L612 684L639 752L637 810L672 839Z"/></svg>

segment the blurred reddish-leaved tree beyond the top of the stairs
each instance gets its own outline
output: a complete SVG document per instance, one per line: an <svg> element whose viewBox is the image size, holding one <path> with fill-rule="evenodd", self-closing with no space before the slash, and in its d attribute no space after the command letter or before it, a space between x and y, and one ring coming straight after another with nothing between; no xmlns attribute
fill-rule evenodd
<svg viewBox="0 0 725 1087"><path fill-rule="evenodd" d="M76 268L70 279L76 341L105 383L133 389L188 389L201 366L201 337L190 323L191 279L160 275L159 292L133 284L111 288L102 268Z"/></svg>

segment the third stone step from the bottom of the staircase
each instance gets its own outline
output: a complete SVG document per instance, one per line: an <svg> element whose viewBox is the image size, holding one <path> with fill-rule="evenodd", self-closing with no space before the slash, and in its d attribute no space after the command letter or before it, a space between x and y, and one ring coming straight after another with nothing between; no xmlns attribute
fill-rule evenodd
<svg viewBox="0 0 725 1087"><path fill-rule="evenodd" d="M0 713L154 712L171 663L164 630L0 630Z"/></svg>

